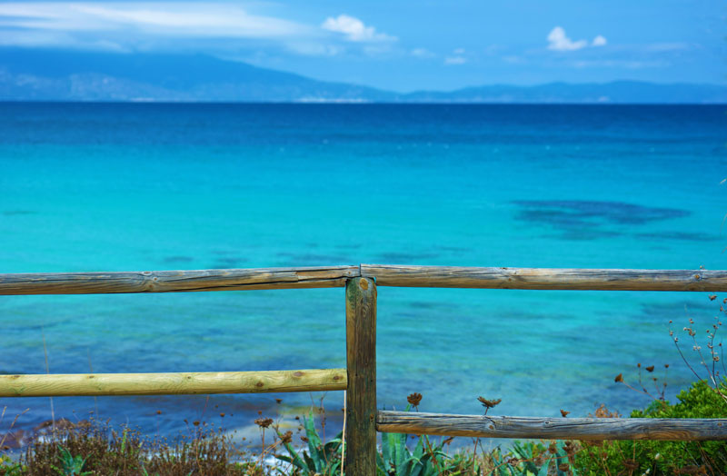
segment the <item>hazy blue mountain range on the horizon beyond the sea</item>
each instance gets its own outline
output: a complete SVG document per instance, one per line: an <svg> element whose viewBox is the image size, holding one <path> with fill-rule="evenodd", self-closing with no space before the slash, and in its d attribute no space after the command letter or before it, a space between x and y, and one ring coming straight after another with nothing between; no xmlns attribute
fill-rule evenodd
<svg viewBox="0 0 727 476"><path fill-rule="evenodd" d="M2 101L723 104L727 86L615 81L398 94L207 55L0 48Z"/></svg>

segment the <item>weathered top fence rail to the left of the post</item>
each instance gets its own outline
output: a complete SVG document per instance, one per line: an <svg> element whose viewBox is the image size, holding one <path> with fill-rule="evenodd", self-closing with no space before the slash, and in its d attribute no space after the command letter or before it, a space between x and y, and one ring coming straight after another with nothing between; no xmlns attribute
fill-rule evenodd
<svg viewBox="0 0 727 476"><path fill-rule="evenodd" d="M358 266L124 273L0 274L0 295L174 293L344 287Z"/></svg>

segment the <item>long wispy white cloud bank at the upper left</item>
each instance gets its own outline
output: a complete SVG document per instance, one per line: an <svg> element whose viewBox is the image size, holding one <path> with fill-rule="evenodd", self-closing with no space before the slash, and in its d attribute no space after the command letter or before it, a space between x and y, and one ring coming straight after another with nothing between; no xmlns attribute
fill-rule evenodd
<svg viewBox="0 0 727 476"><path fill-rule="evenodd" d="M281 18L252 15L229 4L28 2L0 4L0 26L36 31L123 32L184 37L275 38L314 29Z"/></svg>

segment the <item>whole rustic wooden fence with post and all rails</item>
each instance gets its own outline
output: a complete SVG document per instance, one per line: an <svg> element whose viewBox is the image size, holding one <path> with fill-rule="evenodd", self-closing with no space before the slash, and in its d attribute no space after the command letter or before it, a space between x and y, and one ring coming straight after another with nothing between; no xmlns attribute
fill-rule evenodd
<svg viewBox="0 0 727 476"><path fill-rule="evenodd" d="M0 375L0 397L346 390L349 475L376 473L376 431L568 440L727 440L725 419L527 418L377 412L376 287L727 291L727 271L360 264L247 270L0 274L0 295L345 287L346 368L280 372Z"/></svg>

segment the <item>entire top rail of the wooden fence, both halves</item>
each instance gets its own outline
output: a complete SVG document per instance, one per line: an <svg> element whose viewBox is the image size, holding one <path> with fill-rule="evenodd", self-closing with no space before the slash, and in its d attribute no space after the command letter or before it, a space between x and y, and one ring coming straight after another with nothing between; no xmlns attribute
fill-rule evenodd
<svg viewBox="0 0 727 476"><path fill-rule="evenodd" d="M296 268L120 273L0 274L0 295L184 293L344 287L356 277L379 286L592 291L727 291L727 270L477 268L359 264Z"/></svg>

